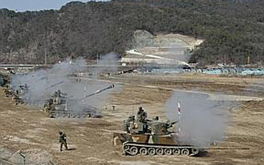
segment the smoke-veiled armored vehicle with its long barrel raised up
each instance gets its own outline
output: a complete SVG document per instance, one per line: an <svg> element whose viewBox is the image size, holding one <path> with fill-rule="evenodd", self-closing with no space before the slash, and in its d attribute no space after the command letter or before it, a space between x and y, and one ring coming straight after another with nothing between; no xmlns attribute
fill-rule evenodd
<svg viewBox="0 0 264 165"><path fill-rule="evenodd" d="M97 90L94 93L86 95L84 98L93 96L100 92L103 92L107 89L113 88L114 85L111 85L102 90ZM67 94L62 93L61 91L56 91L53 96L46 100L44 104L44 111L48 112L49 117L58 118L99 118L102 117L98 113L97 108L82 104L81 99L68 98Z"/></svg>

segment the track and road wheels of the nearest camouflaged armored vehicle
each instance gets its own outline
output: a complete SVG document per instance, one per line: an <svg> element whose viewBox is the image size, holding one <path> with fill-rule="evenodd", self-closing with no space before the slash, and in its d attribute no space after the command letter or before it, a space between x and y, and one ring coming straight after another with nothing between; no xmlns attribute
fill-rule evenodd
<svg viewBox="0 0 264 165"><path fill-rule="evenodd" d="M199 149L195 146L146 144L136 142L123 143L123 154L131 156L194 156L198 153Z"/></svg>

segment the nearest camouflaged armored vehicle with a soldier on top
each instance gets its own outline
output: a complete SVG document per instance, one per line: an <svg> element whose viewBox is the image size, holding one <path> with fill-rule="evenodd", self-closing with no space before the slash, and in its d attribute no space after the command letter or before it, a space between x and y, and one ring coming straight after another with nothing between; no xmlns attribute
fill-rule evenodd
<svg viewBox="0 0 264 165"><path fill-rule="evenodd" d="M122 143L124 155L171 155L193 156L199 153L196 146L188 145L181 140L178 132L169 129L177 121L159 121L147 119L147 113L140 107L137 119L129 116L124 120L124 132L115 132L113 144Z"/></svg>

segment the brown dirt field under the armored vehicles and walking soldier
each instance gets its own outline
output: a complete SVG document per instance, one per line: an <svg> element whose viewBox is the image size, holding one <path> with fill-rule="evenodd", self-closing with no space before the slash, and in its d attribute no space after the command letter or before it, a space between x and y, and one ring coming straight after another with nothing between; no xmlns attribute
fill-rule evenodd
<svg viewBox="0 0 264 165"><path fill-rule="evenodd" d="M14 105L1 94L0 158L22 164L20 150L26 164L264 164L263 80L131 74L109 77L104 81L122 87L111 94L106 102L109 108L103 110L101 119L52 119L40 110ZM217 147L249 150L207 150L198 157L122 156L120 146L112 145L111 131L120 130L122 120L138 106L143 106L149 116L164 119L164 104L173 95L171 89L236 95L232 98L240 100L241 105L226 110L228 127ZM109 110L111 105L116 105L115 111ZM68 151L59 151L59 130L68 136Z"/></svg>

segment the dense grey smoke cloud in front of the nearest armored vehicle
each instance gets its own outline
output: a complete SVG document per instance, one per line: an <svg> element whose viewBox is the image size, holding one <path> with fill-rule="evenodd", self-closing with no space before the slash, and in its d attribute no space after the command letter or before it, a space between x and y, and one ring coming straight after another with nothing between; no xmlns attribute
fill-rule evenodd
<svg viewBox="0 0 264 165"><path fill-rule="evenodd" d="M168 119L178 119L177 102L180 102L181 127L180 141L199 147L206 147L223 140L227 127L227 111L229 101L207 100L206 94L175 92L166 103Z"/></svg>

